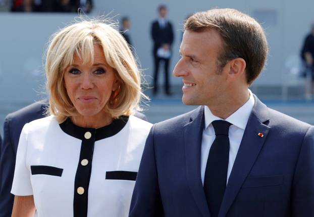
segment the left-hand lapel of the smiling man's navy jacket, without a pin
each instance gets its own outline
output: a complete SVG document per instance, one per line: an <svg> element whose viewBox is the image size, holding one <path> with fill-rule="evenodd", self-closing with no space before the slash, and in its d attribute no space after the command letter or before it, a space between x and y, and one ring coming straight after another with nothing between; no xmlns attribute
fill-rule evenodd
<svg viewBox="0 0 314 217"><path fill-rule="evenodd" d="M202 129L204 127L204 107L200 106L191 114L190 121L184 126L184 147L188 186L204 217L210 216L200 177L200 150Z"/></svg>

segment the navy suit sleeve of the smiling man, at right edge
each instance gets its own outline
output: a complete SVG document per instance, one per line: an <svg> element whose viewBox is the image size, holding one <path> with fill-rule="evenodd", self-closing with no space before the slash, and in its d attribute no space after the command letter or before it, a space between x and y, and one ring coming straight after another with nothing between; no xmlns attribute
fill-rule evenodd
<svg viewBox="0 0 314 217"><path fill-rule="evenodd" d="M291 197L292 217L314 216L314 127L303 139L294 173Z"/></svg>

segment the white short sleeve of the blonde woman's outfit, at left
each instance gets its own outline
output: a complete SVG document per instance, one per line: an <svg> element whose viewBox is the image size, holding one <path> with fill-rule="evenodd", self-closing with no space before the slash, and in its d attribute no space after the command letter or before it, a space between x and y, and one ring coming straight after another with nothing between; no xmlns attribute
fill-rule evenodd
<svg viewBox="0 0 314 217"><path fill-rule="evenodd" d="M19 140L18 150L16 153L16 162L14 170L14 178L11 193L18 196L33 195L30 182L30 169L26 165L27 156L27 126L25 124Z"/></svg>

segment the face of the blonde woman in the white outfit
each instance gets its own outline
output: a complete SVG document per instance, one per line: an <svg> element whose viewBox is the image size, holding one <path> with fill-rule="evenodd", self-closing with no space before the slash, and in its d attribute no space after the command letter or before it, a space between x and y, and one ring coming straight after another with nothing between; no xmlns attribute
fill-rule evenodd
<svg viewBox="0 0 314 217"><path fill-rule="evenodd" d="M94 45L94 62L83 64L74 56L74 63L64 73L65 88L78 113L83 117L103 115L113 91L118 89L114 69L104 57L102 47Z"/></svg>

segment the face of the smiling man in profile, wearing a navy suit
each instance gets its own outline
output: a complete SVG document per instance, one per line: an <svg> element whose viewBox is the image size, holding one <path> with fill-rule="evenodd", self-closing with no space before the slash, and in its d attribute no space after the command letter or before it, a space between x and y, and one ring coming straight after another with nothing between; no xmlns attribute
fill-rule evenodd
<svg viewBox="0 0 314 217"><path fill-rule="evenodd" d="M185 105L210 106L222 100L228 87L228 72L225 67L218 67L218 57L223 50L221 36L214 29L184 32L181 59L173 74L183 80L182 102Z"/></svg>

